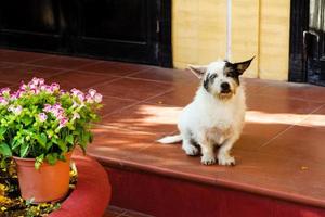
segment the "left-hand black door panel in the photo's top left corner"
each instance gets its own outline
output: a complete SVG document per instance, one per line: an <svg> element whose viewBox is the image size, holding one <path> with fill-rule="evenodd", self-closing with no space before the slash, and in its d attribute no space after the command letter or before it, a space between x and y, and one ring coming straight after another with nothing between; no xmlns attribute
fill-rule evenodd
<svg viewBox="0 0 325 217"><path fill-rule="evenodd" d="M12 48L61 49L62 33L55 0L0 2L0 44Z"/></svg>

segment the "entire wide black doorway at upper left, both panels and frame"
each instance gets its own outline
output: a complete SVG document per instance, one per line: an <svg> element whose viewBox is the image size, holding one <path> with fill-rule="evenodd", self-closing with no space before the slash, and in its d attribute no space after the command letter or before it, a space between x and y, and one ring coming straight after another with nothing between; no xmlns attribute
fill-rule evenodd
<svg viewBox="0 0 325 217"><path fill-rule="evenodd" d="M171 0L4 0L0 46L171 66Z"/></svg>

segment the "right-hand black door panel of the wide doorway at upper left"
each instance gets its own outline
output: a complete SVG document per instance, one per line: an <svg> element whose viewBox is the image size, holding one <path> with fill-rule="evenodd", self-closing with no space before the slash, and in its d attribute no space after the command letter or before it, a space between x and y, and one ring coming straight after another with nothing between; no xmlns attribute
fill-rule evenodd
<svg viewBox="0 0 325 217"><path fill-rule="evenodd" d="M79 10L76 52L158 65L157 1L89 0Z"/></svg>

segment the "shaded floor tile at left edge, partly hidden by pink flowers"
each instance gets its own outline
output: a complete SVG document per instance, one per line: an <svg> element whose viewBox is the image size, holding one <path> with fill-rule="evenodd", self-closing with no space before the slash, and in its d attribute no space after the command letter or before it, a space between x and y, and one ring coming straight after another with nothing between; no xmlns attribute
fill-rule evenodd
<svg viewBox="0 0 325 217"><path fill-rule="evenodd" d="M22 80L28 82L32 77L48 78L60 74L61 69L14 64L0 68L0 81L18 85Z"/></svg>

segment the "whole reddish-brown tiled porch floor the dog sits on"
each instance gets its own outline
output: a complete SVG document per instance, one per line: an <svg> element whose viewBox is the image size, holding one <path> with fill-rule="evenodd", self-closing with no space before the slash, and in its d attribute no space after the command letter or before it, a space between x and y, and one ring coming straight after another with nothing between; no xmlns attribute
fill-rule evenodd
<svg viewBox="0 0 325 217"><path fill-rule="evenodd" d="M323 87L244 79L248 111L233 150L237 165L223 167L155 142L176 132L195 93L198 80L186 71L0 50L0 87L34 76L103 93L103 118L88 150L103 162L325 207Z"/></svg>

